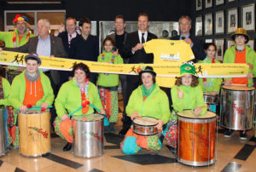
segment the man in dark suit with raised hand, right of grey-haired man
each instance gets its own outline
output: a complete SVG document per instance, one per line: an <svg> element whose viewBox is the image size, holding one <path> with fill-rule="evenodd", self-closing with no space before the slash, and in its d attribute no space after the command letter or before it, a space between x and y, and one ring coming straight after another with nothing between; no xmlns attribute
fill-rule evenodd
<svg viewBox="0 0 256 172"><path fill-rule="evenodd" d="M76 32L76 28L77 28L77 20L72 18L72 17L68 17L66 20L66 31L65 32L61 32L61 30L64 30L64 27L60 27L59 32L55 32L55 37L61 37L64 49L66 50L66 53L69 54L69 48L70 48L70 43L71 40L75 37L77 37L78 32ZM58 84L58 89L61 88L62 83L65 83L68 81L68 77L71 77L71 72L67 72L67 71L59 71L60 73L60 83Z"/></svg>

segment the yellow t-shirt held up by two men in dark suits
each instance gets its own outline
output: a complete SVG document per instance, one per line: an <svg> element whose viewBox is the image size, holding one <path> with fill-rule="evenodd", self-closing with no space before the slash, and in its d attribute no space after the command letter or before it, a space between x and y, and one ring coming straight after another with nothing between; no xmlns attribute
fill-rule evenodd
<svg viewBox="0 0 256 172"><path fill-rule="evenodd" d="M152 39L143 43L146 53L154 54L154 64L175 63L195 59L189 43L183 40Z"/></svg>

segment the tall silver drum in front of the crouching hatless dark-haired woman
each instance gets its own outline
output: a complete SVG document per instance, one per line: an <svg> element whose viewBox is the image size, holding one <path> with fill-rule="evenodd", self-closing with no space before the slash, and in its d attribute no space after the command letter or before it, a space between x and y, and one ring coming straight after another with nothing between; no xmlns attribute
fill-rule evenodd
<svg viewBox="0 0 256 172"><path fill-rule="evenodd" d="M73 154L82 158L100 157L104 153L104 117L99 114L73 116Z"/></svg>

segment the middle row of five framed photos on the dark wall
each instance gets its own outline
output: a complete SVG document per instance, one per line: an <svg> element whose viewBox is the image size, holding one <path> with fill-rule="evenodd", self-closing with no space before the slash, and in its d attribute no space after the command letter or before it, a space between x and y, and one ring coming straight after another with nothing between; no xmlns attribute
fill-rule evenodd
<svg viewBox="0 0 256 172"><path fill-rule="evenodd" d="M216 11L215 13L215 34L224 34L224 24L227 20L227 32L232 33L238 27L238 9L229 9L226 12ZM195 36L212 35L213 34L213 20L212 14L205 14L204 16L204 33L202 30L203 18L202 15L195 18ZM248 4L241 8L241 27L247 31L255 31L255 4Z"/></svg>

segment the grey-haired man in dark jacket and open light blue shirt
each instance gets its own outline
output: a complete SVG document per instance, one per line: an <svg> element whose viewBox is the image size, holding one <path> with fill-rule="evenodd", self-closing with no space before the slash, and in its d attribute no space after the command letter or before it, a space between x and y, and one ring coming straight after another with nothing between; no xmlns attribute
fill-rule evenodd
<svg viewBox="0 0 256 172"><path fill-rule="evenodd" d="M38 37L29 38L28 42L19 48L4 48L4 50L16 51L21 53L38 54L49 57L67 57L66 51L60 37L53 37L49 35L49 20L38 20ZM0 49L1 50L1 49ZM56 95L56 85L60 81L58 71L42 70L48 77L51 87ZM55 109L51 108L51 124L56 117ZM54 129L54 128L53 128Z"/></svg>

